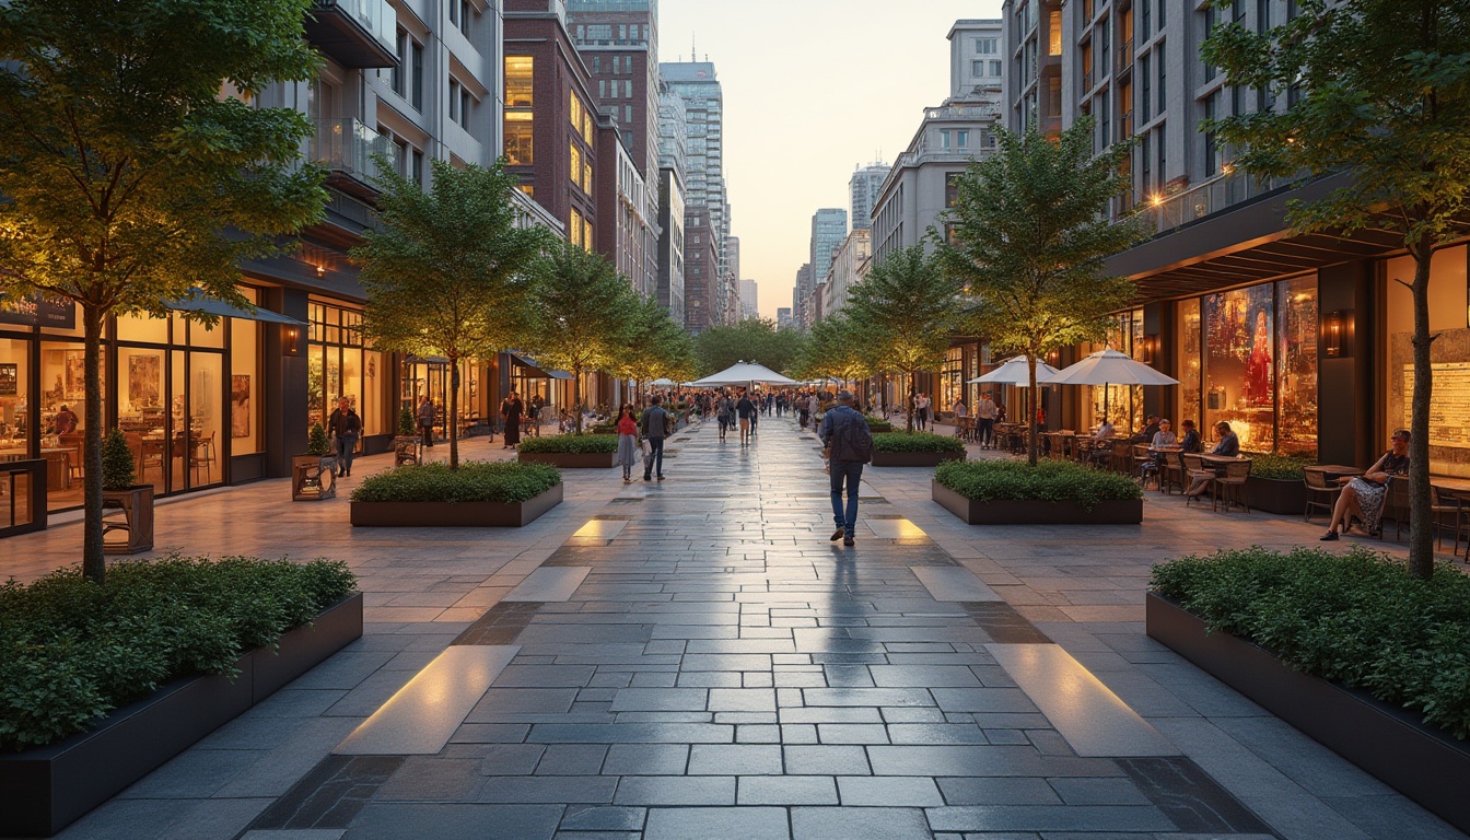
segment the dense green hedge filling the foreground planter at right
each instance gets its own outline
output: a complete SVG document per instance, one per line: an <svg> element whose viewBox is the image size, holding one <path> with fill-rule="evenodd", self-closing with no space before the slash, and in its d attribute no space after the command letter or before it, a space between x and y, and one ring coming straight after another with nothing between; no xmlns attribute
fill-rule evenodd
<svg viewBox="0 0 1470 840"><path fill-rule="evenodd" d="M1157 565L1151 588L1288 668L1470 736L1470 577L1449 565L1421 581L1361 546L1342 556L1255 546Z"/></svg>

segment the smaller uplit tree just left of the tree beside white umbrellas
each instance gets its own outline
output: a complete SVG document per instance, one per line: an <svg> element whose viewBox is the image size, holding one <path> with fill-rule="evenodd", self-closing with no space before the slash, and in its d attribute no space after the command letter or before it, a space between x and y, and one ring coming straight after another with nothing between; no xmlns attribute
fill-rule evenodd
<svg viewBox="0 0 1470 840"><path fill-rule="evenodd" d="M963 285L939 269L925 246L889 253L848 290L844 313L856 327L857 341L872 349L883 371L908 377L904 397L907 430L914 430L919 374L938 371L950 340L961 332Z"/></svg>

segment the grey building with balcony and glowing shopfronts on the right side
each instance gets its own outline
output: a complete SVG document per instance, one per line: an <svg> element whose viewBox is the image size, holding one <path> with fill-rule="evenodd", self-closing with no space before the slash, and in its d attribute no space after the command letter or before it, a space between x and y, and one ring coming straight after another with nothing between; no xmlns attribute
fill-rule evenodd
<svg viewBox="0 0 1470 840"><path fill-rule="evenodd" d="M1117 316L1114 349L1148 360L1180 385L1113 388L1119 427L1145 413L1194 419L1205 433L1226 421L1255 452L1304 453L1323 462L1369 463L1395 428L1408 425L1413 260L1392 235L1292 235L1292 200L1313 200L1341 178L1258 179L1232 165L1233 152L1207 132L1213 116L1291 107L1298 88L1225 84L1200 44L1235 22L1264 31L1297 13L1288 0L1226 9L1167 0L1008 0L1007 56L1025 71L1045 44L1042 66L1060 76L1058 129L1095 118L1095 146L1136 138L1132 190L1116 219L1136 218L1147 241L1108 262L1138 282L1136 305ZM1060 32L1060 37L1057 35ZM1030 87L1007 88L1007 125L1022 128ZM1467 240L1435 255L1430 328L1436 409L1430 469L1470 475ZM1079 347L1076 352L1088 352ZM1054 424L1088 428L1102 415L1102 388L1058 400ZM1122 412L1120 412L1122 407ZM1122 413L1122 416L1119 416Z"/></svg>

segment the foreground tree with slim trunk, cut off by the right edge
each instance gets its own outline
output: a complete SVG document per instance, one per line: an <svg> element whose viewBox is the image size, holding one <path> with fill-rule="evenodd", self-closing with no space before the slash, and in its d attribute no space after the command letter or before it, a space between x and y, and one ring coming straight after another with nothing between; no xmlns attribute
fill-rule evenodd
<svg viewBox="0 0 1470 840"><path fill-rule="evenodd" d="M1470 4L1301 0L1297 18L1264 32L1217 29L1201 54L1226 84L1286 94L1273 109L1204 127L1236 150L1235 166L1273 178L1348 175L1326 197L1288 206L1294 232L1389 231L1414 259L1411 280L1389 280L1414 299L1408 565L1429 578L1429 268L1436 246L1464 235L1470 207Z"/></svg>

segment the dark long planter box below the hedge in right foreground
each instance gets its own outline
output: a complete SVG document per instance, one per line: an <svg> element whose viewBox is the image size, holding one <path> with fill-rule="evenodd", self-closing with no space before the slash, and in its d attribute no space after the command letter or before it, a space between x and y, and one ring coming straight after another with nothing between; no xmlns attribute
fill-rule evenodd
<svg viewBox="0 0 1470 840"><path fill-rule="evenodd" d="M1470 833L1470 746L1417 715L1319 677L1291 671L1269 650L1204 622L1152 593L1148 636L1389 787Z"/></svg>

